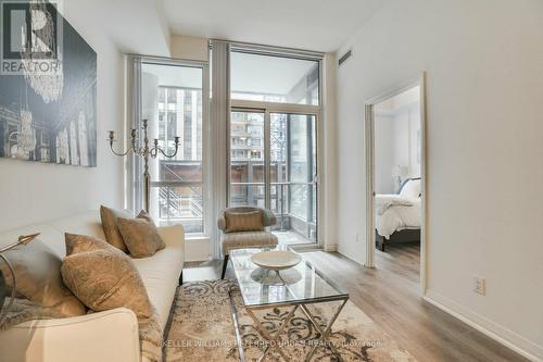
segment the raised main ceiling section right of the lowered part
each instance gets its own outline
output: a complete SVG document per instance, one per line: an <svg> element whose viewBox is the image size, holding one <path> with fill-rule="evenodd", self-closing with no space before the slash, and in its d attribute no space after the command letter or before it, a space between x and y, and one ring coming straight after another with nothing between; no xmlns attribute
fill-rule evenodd
<svg viewBox="0 0 543 362"><path fill-rule="evenodd" d="M162 0L172 34L336 51L390 0Z"/></svg>

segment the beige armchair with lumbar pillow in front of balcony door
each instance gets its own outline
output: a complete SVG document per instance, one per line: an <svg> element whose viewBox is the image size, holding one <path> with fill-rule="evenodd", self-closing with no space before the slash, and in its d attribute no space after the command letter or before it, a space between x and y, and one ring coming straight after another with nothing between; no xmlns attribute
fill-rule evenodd
<svg viewBox="0 0 543 362"><path fill-rule="evenodd" d="M276 247L277 237L265 229L275 224L277 224L277 220L269 210L253 207L223 210L217 220L217 226L223 230L220 246L224 261L220 278L225 278L230 250Z"/></svg>

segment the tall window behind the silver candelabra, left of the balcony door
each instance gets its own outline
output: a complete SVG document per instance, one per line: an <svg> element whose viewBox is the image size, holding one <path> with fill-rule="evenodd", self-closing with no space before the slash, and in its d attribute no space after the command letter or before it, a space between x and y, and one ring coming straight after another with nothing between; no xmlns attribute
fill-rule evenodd
<svg viewBox="0 0 543 362"><path fill-rule="evenodd" d="M203 68L143 62L142 117L149 138L167 154L150 162L151 215L160 225L180 223L187 234L204 232Z"/></svg>

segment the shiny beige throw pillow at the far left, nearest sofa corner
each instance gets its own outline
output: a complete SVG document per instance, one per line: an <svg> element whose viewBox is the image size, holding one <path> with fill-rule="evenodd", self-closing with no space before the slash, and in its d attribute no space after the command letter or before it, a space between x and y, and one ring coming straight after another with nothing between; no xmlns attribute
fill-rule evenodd
<svg viewBox="0 0 543 362"><path fill-rule="evenodd" d="M65 316L84 315L85 305L64 286L61 276L62 260L43 242L34 240L4 254L13 265L16 291L28 300L52 308ZM4 262L0 269L10 288L11 272Z"/></svg>

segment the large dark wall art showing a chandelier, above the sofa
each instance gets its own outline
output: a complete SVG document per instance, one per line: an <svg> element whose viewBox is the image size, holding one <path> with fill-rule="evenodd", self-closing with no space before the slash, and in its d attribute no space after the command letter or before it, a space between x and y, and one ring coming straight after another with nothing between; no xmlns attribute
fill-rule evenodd
<svg viewBox="0 0 543 362"><path fill-rule="evenodd" d="M58 2L0 8L0 157L96 166L97 53Z"/></svg>

